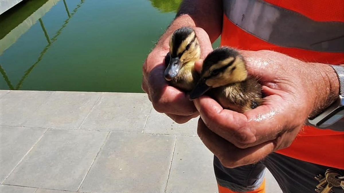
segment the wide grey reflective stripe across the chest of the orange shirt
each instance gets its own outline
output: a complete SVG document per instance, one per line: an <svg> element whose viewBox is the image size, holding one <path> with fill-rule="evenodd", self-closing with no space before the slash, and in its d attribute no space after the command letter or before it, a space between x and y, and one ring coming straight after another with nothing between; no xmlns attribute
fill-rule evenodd
<svg viewBox="0 0 344 193"><path fill-rule="evenodd" d="M262 0L224 0L224 13L241 29L278 46L344 52L344 22L314 21Z"/></svg>

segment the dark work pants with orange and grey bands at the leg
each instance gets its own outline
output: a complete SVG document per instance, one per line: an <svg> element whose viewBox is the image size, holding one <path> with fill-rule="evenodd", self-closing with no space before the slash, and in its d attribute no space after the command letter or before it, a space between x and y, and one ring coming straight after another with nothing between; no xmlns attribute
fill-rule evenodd
<svg viewBox="0 0 344 193"><path fill-rule="evenodd" d="M319 183L314 177L329 167L272 153L256 164L226 168L214 157L214 171L219 193L265 193L265 169L268 168L283 193L313 193ZM344 172L344 170L341 170ZM334 188L334 193L343 193ZM270 193L270 192L267 192ZM271 192L273 193L273 192Z"/></svg>

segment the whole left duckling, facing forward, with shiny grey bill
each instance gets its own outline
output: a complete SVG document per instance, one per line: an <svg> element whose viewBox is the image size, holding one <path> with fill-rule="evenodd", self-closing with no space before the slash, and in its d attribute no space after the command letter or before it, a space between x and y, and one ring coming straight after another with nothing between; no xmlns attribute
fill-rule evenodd
<svg viewBox="0 0 344 193"><path fill-rule="evenodd" d="M172 86L186 92L191 91L199 79L199 74L194 69L195 61L201 55L196 33L191 27L182 27L174 31L169 45L164 77Z"/></svg>

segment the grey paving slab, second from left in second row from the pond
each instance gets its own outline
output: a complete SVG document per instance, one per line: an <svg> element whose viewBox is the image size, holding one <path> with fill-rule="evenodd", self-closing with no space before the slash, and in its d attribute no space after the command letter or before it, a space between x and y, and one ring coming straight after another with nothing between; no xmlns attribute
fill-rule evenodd
<svg viewBox="0 0 344 193"><path fill-rule="evenodd" d="M49 129L4 184L76 191L107 134Z"/></svg>

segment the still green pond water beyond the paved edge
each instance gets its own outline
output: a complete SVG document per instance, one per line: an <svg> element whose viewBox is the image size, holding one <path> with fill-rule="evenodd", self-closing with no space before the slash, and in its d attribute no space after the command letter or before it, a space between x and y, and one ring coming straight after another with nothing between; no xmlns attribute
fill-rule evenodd
<svg viewBox="0 0 344 193"><path fill-rule="evenodd" d="M142 63L180 2L25 0L0 15L0 89L142 92Z"/></svg>

